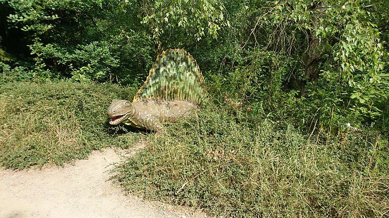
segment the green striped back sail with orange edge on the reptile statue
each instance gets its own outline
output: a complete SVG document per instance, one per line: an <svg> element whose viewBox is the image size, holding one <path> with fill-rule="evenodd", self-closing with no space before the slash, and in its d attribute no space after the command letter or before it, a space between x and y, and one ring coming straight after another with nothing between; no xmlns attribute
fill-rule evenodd
<svg viewBox="0 0 389 218"><path fill-rule="evenodd" d="M157 57L134 102L180 99L200 105L207 97L204 78L195 59L182 49L171 49Z"/></svg>

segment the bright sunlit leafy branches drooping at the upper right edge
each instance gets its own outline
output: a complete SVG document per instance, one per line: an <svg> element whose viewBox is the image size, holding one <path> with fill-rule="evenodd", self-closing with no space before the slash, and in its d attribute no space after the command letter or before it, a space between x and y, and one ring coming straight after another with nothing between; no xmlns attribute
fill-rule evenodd
<svg viewBox="0 0 389 218"><path fill-rule="evenodd" d="M384 73L388 53L380 43L380 33L377 24L369 17L369 12L362 9L360 3L346 2L342 9L343 13L328 12L329 16L336 18L328 21L333 23L326 27L329 30L332 26L341 23L345 24L343 30L330 33L336 35L341 33L339 42L333 46L333 57L335 63L341 65L341 73L332 74L332 70L325 71L327 79L343 80L351 88L351 99L359 101L360 104L368 106L366 109L359 108L362 113L371 116L379 115L380 109L375 105L380 105L382 101L388 99L389 74ZM344 14L351 14L346 16ZM369 17L370 19L366 19ZM321 28L323 29L323 28ZM334 29L334 28L332 28ZM325 31L323 31L325 37ZM317 33L320 34L320 33ZM358 107L359 104L355 104ZM356 108L358 109L358 108Z"/></svg>

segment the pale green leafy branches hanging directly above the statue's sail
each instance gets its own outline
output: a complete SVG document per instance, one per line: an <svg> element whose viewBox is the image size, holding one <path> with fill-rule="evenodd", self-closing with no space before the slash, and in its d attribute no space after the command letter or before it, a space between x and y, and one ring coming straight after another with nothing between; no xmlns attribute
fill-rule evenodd
<svg viewBox="0 0 389 218"><path fill-rule="evenodd" d="M124 10L133 7L133 3L124 1ZM207 33L216 38L220 29L230 26L230 21L224 16L225 7L218 0L183 0L151 1L143 4L141 8L142 24L146 24L153 38L160 46L163 34L171 34L171 31L183 31L191 39L200 41Z"/></svg>

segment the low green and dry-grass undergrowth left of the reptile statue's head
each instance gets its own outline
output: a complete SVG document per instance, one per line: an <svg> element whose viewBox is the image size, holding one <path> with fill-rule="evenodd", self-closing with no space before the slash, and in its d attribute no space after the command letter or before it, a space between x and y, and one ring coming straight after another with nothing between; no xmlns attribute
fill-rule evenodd
<svg viewBox="0 0 389 218"><path fill-rule="evenodd" d="M139 132L108 125L106 117L112 99L129 98L135 89L61 81L6 83L0 90L0 165L5 168L63 165L93 149L126 148L139 139Z"/></svg>

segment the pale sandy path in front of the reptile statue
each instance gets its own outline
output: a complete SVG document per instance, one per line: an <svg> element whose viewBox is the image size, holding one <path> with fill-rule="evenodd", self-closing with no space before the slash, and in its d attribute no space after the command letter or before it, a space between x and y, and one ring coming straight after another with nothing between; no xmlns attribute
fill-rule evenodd
<svg viewBox="0 0 389 218"><path fill-rule="evenodd" d="M132 149L141 149L141 145ZM0 170L0 218L19 217L129 217L204 218L200 211L147 202L123 191L109 180L108 171L123 150L95 151L74 165L42 170ZM127 156L131 153L127 152ZM122 156L122 157L121 157Z"/></svg>

